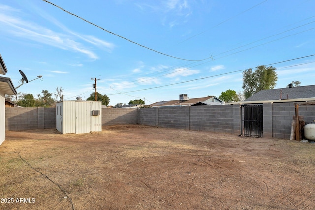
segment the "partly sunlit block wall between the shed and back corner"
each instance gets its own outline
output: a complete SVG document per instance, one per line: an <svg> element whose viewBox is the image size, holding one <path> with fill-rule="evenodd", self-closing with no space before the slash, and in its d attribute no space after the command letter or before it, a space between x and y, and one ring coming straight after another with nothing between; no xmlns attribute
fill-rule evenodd
<svg viewBox="0 0 315 210"><path fill-rule="evenodd" d="M136 108L103 108L102 126L117 124L137 124L138 109Z"/></svg>

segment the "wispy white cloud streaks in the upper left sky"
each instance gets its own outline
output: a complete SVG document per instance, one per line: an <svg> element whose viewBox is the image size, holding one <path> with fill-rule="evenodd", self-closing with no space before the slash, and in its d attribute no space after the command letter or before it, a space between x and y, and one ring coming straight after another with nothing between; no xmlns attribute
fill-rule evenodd
<svg viewBox="0 0 315 210"><path fill-rule="evenodd" d="M40 26L32 21L19 18L19 15L20 14L17 12L17 10L14 10L8 6L0 5L0 32L2 34L5 33L10 36L19 37L21 39L29 39L63 50L83 53L92 59L98 59L98 56L92 50L83 46L83 44L75 41L73 35L97 47L106 48L108 51L114 48L114 44L100 40L96 37L89 35L78 35L68 30L65 26L60 24L52 17L47 19L65 30L67 34L52 31L49 28Z"/></svg>

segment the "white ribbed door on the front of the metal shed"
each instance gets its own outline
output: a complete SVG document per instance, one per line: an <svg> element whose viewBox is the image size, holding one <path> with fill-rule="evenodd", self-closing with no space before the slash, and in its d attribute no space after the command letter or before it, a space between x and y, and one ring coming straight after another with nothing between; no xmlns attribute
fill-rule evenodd
<svg viewBox="0 0 315 210"><path fill-rule="evenodd" d="M84 134L91 131L90 103L75 103L75 133Z"/></svg>

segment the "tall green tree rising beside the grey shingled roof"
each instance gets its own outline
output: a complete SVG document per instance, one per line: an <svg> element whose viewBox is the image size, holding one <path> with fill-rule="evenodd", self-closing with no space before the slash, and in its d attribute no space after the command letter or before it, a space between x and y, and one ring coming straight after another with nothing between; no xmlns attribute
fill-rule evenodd
<svg viewBox="0 0 315 210"><path fill-rule="evenodd" d="M243 72L243 89L246 98L253 94L267 89L273 89L278 80L276 68L270 66L258 66L255 71L252 69Z"/></svg>

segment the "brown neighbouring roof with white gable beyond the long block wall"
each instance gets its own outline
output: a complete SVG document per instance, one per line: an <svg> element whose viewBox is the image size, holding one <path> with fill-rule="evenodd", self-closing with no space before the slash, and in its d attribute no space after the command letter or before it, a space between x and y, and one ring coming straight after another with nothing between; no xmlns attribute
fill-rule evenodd
<svg viewBox="0 0 315 210"><path fill-rule="evenodd" d="M215 96L207 96L202 98L192 98L189 100L170 100L170 101L161 101L151 104L152 107L162 107L162 106L190 106L198 102L210 103L210 102L221 102L222 100Z"/></svg>

